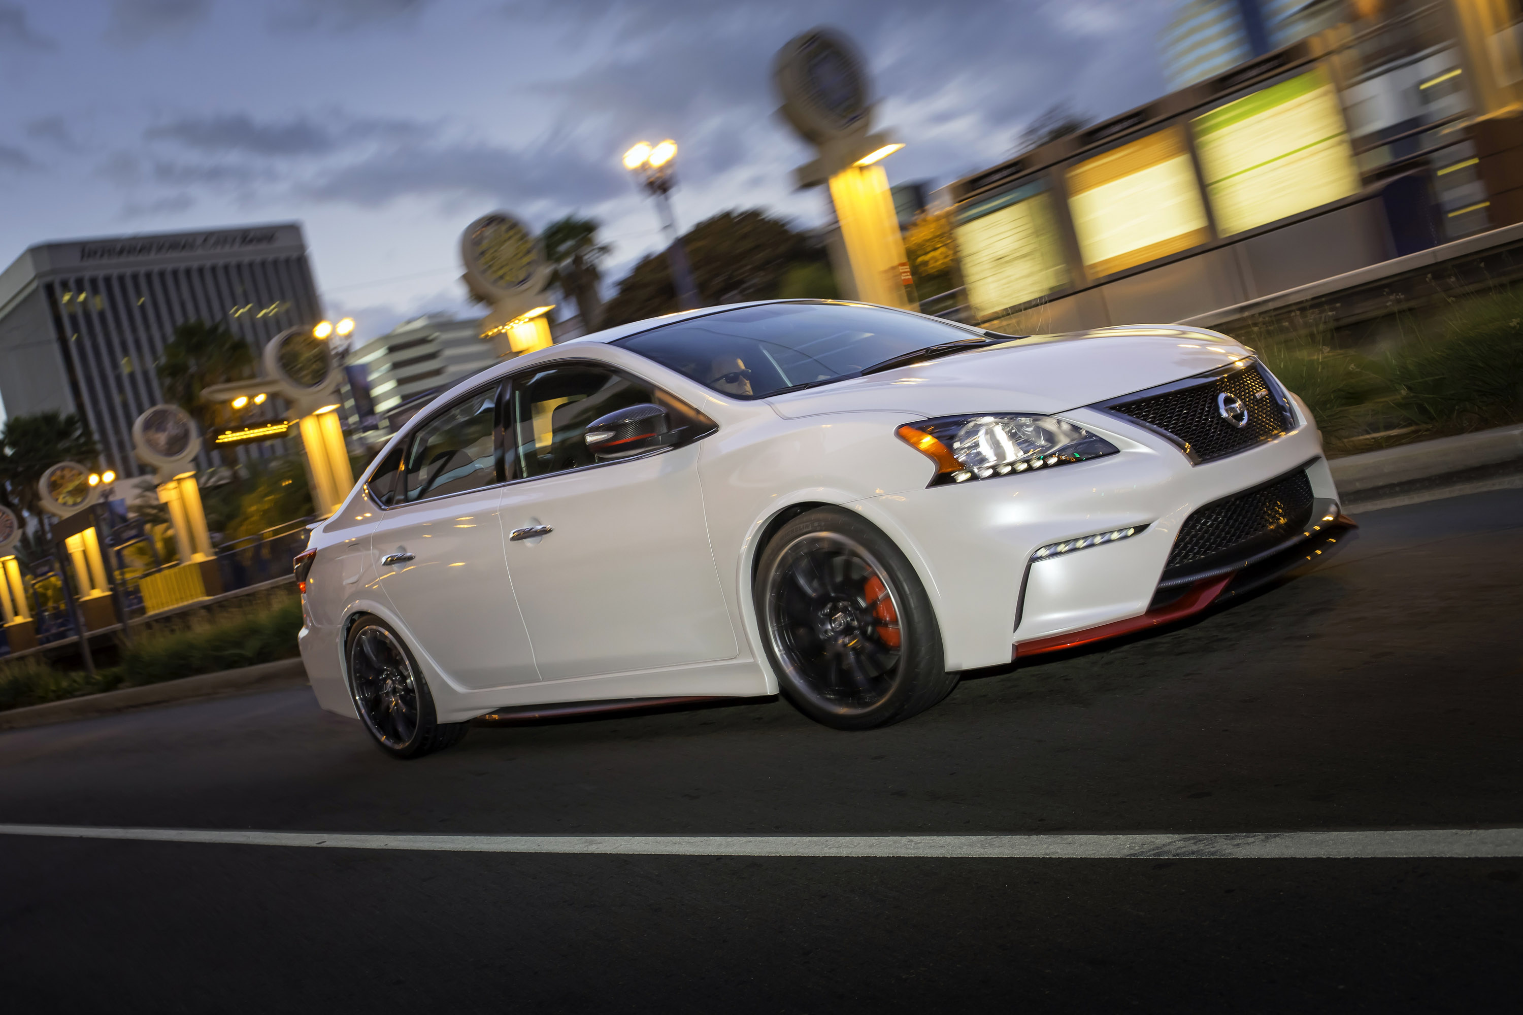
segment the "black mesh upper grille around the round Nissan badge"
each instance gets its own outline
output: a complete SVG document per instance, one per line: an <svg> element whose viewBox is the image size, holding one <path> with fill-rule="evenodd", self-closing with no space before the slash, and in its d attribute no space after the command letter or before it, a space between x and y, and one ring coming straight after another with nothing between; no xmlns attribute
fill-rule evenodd
<svg viewBox="0 0 1523 1015"><path fill-rule="evenodd" d="M1170 385L1173 388L1173 385ZM1234 426L1221 415L1218 396L1238 397L1247 408L1247 425ZM1130 402L1112 402L1104 408L1121 412L1156 431L1162 431L1197 464L1226 458L1260 441L1279 437L1292 426L1292 417L1281 403L1275 385L1264 368L1249 362L1231 373L1202 383L1145 394Z"/></svg>

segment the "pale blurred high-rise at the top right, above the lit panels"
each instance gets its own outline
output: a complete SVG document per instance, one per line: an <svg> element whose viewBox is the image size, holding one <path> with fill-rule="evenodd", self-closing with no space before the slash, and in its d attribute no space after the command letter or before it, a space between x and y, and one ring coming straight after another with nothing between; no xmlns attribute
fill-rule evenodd
<svg viewBox="0 0 1523 1015"><path fill-rule="evenodd" d="M1183 0L1162 32L1170 87L1214 78L1346 17L1345 0Z"/></svg>

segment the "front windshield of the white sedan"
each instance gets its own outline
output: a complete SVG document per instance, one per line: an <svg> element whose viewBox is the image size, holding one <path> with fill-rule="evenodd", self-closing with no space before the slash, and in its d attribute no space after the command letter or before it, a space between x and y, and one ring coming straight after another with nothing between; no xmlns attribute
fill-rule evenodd
<svg viewBox="0 0 1523 1015"><path fill-rule="evenodd" d="M848 303L769 303L678 321L614 344L733 399L765 399L856 376L889 356L978 336L920 313Z"/></svg>

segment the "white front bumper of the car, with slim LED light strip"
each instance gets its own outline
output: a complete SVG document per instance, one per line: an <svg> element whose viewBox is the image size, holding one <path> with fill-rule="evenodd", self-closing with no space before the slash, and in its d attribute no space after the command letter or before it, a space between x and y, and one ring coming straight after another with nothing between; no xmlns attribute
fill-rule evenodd
<svg viewBox="0 0 1523 1015"><path fill-rule="evenodd" d="M949 670L1008 665L1013 647L1025 642L1141 621L1154 606L1168 606L1154 603L1159 581L1185 520L1203 505L1296 469L1305 470L1314 499L1337 501L1319 434L1305 422L1252 450L1193 466L1173 443L1113 415L1092 409L1063 415L1121 452L1045 473L897 492L853 505L915 563L935 606ZM1147 528L1033 560L1039 546L1127 527Z"/></svg>

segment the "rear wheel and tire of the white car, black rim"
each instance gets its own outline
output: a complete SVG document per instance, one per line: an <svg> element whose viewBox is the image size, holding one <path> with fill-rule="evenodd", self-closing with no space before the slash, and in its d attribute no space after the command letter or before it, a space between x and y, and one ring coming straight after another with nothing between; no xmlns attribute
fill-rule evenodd
<svg viewBox="0 0 1523 1015"><path fill-rule="evenodd" d="M355 712L381 753L410 759L458 744L466 723L440 723L411 650L390 624L367 616L344 645Z"/></svg>

